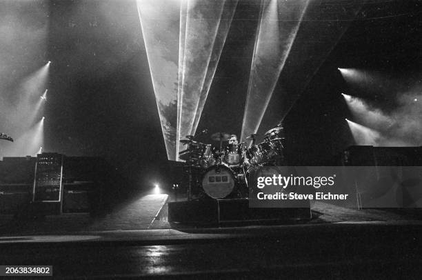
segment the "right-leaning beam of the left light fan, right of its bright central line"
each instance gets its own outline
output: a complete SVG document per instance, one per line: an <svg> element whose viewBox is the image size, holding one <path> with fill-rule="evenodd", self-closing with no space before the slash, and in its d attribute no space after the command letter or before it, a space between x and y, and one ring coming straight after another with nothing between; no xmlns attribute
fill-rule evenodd
<svg viewBox="0 0 422 280"><path fill-rule="evenodd" d="M225 6L225 3L228 5ZM221 25L221 19L222 17L231 19L235 3L236 1L233 0L188 1L183 50L183 81L179 100L181 103L179 139L196 132L208 94L208 83L212 81L214 67L217 67L215 61L225 41L225 32L228 32L230 26L226 23ZM225 8L228 9L225 10ZM181 147L179 143L179 150Z"/></svg>

